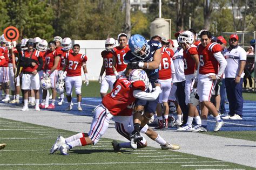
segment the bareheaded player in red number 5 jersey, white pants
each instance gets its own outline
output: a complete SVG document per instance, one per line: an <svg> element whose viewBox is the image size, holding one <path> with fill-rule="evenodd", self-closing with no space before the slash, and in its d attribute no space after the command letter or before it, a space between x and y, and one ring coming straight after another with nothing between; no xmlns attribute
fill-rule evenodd
<svg viewBox="0 0 256 170"><path fill-rule="evenodd" d="M211 32L203 31L200 35L201 44L198 46L199 75L198 82L195 84L197 84L199 101L201 103L202 125L199 129L194 130L194 132L207 131L208 111L211 111L217 121L214 128L214 131L217 132L224 125L224 122L221 120L217 109L210 99L217 80L221 79L224 73L227 62L223 54L221 54L222 47L215 42L211 42Z"/></svg>

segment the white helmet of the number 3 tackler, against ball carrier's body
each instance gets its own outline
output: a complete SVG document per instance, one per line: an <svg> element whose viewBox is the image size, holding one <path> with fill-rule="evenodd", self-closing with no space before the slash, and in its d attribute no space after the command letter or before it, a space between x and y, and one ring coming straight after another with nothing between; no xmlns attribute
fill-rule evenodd
<svg viewBox="0 0 256 170"><path fill-rule="evenodd" d="M146 72L143 69L134 69L129 74L129 81L143 81L145 83L145 90L149 87L149 78L147 77Z"/></svg>

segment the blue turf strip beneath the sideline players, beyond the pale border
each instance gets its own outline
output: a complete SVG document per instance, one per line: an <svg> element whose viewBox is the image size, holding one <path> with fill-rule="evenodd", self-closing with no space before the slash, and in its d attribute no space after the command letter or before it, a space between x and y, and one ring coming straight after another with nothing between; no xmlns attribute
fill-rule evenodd
<svg viewBox="0 0 256 170"><path fill-rule="evenodd" d="M72 102L73 110L65 111L68 107L68 103L64 102L62 106L56 105L56 108L52 111L61 111L67 114L81 115L81 116L92 116L93 109L100 104L101 98L82 98L83 111L77 111L76 98L73 98ZM57 103L57 102L56 102ZM228 104L225 105L226 111L228 112ZM245 101L244 102L244 114L241 121L225 120L225 125L221 128L221 131L255 131L256 130L256 101ZM176 116L176 115L174 115ZM213 131L215 126L215 120L213 117L208 116L208 130ZM170 129L170 128L169 128ZM176 128L171 128L175 130Z"/></svg>

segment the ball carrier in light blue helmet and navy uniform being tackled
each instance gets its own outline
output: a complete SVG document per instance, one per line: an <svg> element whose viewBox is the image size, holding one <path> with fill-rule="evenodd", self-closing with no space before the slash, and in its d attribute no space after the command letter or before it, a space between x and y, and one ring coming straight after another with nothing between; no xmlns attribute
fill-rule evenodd
<svg viewBox="0 0 256 170"><path fill-rule="evenodd" d="M136 69L143 68L149 77L152 88L158 81L158 67L161 61L161 43L158 41L146 39L134 34L129 40L130 51L124 56L124 62L128 63L127 67ZM149 91L149 89L147 89ZM137 143L140 136L140 127L143 127L156 111L158 98L156 101L137 100L134 107L133 123L134 131L131 133L131 143ZM142 112L144 114L142 115ZM132 146L133 146L132 145Z"/></svg>

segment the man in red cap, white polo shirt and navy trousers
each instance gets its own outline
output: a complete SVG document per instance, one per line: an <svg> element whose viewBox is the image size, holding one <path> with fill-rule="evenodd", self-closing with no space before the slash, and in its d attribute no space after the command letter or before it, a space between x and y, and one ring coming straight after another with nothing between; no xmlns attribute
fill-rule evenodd
<svg viewBox="0 0 256 170"><path fill-rule="evenodd" d="M224 53L224 57L227 60L225 84L227 100L230 103L230 112L223 119L240 120L242 119L242 107L244 104L242 82L245 75L246 51L238 46L237 34L230 36L229 43L230 47Z"/></svg>

